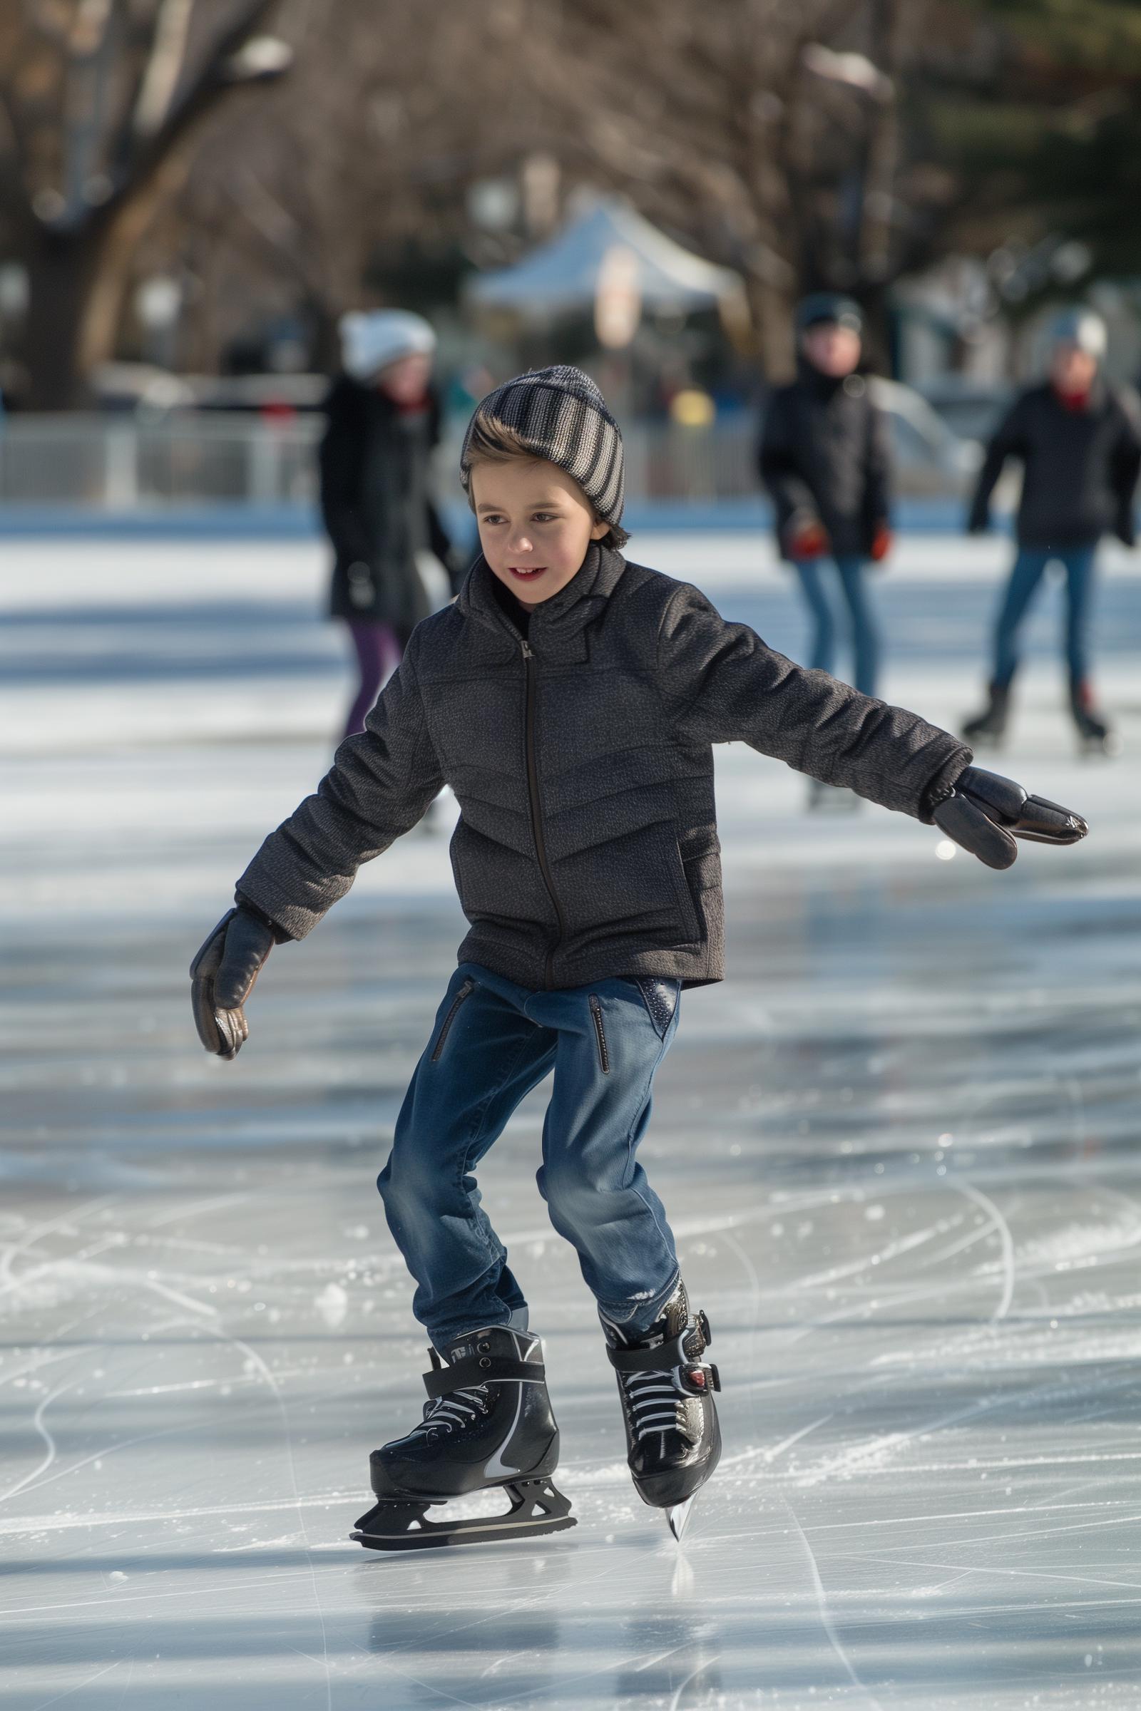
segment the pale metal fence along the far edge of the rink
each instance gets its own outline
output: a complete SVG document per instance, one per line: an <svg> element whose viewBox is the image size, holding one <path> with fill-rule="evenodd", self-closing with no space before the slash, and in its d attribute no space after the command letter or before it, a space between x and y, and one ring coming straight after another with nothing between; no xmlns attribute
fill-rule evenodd
<svg viewBox="0 0 1141 1711"><path fill-rule="evenodd" d="M946 494L956 472L917 455L893 417L900 489ZM0 426L0 503L96 510L251 503L316 496L322 417L169 414L9 416ZM913 435L912 435L913 438ZM633 500L736 500L756 493L756 423L746 412L710 428L633 423L626 433ZM458 435L440 448L441 496L458 498Z"/></svg>

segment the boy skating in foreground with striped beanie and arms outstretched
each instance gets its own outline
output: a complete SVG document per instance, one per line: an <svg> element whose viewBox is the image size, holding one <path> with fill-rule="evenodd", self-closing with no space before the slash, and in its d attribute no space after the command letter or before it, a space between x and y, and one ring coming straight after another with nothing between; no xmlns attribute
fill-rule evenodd
<svg viewBox="0 0 1141 1711"><path fill-rule="evenodd" d="M621 435L578 370L484 399L462 472L482 556L238 881L192 967L195 1018L207 1051L234 1057L274 943L304 938L452 785L470 931L380 1174L431 1338L429 1400L375 1451L378 1502L354 1536L407 1548L573 1525L551 1483L539 1340L474 1175L549 1071L539 1189L599 1307L635 1485L679 1531L720 1453L718 1379L636 1152L681 991L722 979L712 744L746 741L934 820L994 867L1013 862L1013 837L1069 844L1085 825L977 772L958 737L794 666L696 589L628 563ZM428 1518L488 1485L506 1489L510 1514Z"/></svg>

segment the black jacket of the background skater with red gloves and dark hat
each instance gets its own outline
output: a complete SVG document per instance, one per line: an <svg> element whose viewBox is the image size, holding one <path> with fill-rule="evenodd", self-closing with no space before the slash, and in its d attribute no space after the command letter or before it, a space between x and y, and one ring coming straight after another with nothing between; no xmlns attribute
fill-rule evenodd
<svg viewBox="0 0 1141 1711"><path fill-rule="evenodd" d="M777 544L792 518L821 522L831 551L866 558L891 508L888 421L862 375L831 380L809 363L773 394L758 453Z"/></svg>

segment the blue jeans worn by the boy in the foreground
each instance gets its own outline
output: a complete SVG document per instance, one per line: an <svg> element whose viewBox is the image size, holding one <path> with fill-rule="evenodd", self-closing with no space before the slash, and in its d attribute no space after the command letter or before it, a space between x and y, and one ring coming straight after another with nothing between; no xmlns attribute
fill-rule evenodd
<svg viewBox="0 0 1141 1711"><path fill-rule="evenodd" d="M551 1069L537 1174L551 1223L609 1319L638 1333L660 1314L677 1254L636 1150L679 982L653 986L652 1006L636 980L535 992L479 963L455 970L376 1182L436 1348L486 1324L527 1324L472 1172Z"/></svg>

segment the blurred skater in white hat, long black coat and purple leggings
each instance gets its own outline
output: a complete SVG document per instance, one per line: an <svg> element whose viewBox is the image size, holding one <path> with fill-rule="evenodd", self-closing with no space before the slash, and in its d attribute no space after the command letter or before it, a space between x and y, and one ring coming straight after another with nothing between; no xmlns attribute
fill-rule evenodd
<svg viewBox="0 0 1141 1711"><path fill-rule="evenodd" d="M404 310L340 322L344 373L325 402L322 515L334 546L330 613L349 626L358 690L346 736L364 729L412 630L428 618L421 570L433 554L453 590L457 563L429 494L440 406L431 388L436 335Z"/></svg>

